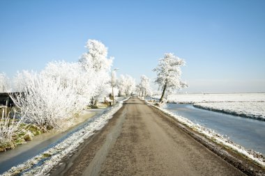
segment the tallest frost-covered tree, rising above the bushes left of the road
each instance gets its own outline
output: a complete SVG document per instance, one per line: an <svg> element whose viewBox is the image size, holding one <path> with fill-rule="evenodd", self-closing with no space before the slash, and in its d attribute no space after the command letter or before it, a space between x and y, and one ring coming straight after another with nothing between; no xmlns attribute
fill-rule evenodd
<svg viewBox="0 0 265 176"><path fill-rule="evenodd" d="M95 93L95 99L107 91L106 84L110 80L110 68L114 58L107 58L107 47L98 40L89 40L86 43L88 51L82 55L79 59L84 70L87 74L91 74L91 71L95 72L96 81L94 82L97 87ZM94 104L96 105L96 102Z"/></svg>

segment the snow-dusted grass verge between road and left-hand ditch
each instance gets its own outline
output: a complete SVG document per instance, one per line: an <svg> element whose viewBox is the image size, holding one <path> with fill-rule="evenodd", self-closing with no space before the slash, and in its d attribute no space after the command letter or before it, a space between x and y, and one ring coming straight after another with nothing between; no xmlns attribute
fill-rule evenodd
<svg viewBox="0 0 265 176"><path fill-rule="evenodd" d="M123 101L126 101L124 99ZM95 131L102 129L112 118L112 115L121 109L123 101L115 106L114 109L109 109L106 113L100 116L95 116L86 122L86 125L68 136L68 138L61 141L54 147L38 154L36 157L25 161L24 163L10 168L2 175L45 175L58 164L63 157L75 151L86 138L93 135Z"/></svg>

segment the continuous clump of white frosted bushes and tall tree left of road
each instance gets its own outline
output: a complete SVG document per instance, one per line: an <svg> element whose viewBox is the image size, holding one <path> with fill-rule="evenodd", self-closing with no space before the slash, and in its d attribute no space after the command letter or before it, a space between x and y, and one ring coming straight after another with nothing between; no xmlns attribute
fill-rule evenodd
<svg viewBox="0 0 265 176"><path fill-rule="evenodd" d="M77 63L51 62L40 73L17 73L15 86L20 93L12 98L27 112L27 122L44 130L61 128L62 122L73 119L92 97L109 90L112 58L107 58L107 48L96 40L89 40L86 47L89 51Z"/></svg>

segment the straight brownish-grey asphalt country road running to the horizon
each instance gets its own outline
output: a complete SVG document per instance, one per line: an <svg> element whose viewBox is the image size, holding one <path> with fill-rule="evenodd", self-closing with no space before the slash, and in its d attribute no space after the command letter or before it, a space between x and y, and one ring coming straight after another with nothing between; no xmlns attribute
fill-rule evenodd
<svg viewBox="0 0 265 176"><path fill-rule="evenodd" d="M244 175L137 98L51 175Z"/></svg>

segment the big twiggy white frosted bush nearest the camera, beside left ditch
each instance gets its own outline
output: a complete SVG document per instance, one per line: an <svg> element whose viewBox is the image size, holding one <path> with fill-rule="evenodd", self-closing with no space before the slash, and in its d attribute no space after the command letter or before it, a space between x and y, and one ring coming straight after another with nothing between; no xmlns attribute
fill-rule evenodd
<svg viewBox="0 0 265 176"><path fill-rule="evenodd" d="M59 128L63 120L68 120L84 107L79 89L73 84L67 86L60 77L24 71L20 77L27 80L22 93L13 96L16 106L25 115L26 122L44 130Z"/></svg>

